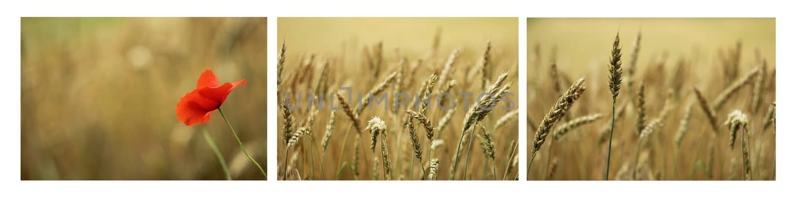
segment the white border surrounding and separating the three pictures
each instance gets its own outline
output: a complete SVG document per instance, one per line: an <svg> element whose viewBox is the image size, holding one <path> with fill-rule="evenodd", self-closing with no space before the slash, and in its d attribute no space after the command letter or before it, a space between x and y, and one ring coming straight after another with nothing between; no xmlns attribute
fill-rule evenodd
<svg viewBox="0 0 797 198"><path fill-rule="evenodd" d="M793 194L794 150L790 144L797 127L780 125L777 181L277 181L276 142L276 17L519 17L520 80L526 82L526 17L776 17L776 64L779 76L795 76L793 8L775 1L25 1L6 2L0 10L2 84L11 88L2 97L0 163L3 197L17 196L747 196ZM269 17L269 181L19 181L20 179L20 52L19 17L22 16L249 16ZM797 101L790 79L779 78L777 91L781 120L795 118ZM520 116L526 115L525 84L520 85ZM785 119L784 119L785 118ZM525 161L525 122L519 122L520 161ZM786 128L783 128L786 127ZM520 178L524 178L524 163Z"/></svg>

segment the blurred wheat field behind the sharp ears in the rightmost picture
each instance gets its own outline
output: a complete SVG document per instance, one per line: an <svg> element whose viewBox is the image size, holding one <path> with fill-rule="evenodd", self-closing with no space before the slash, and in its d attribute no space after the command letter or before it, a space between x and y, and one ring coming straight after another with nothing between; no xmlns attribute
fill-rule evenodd
<svg viewBox="0 0 797 198"><path fill-rule="evenodd" d="M765 126L775 107L775 18L529 18L527 22L529 156L540 120L575 80L586 76L587 90L555 126L585 115L603 115L559 141L549 136L532 162L529 180L604 179L612 116L607 64L617 33L623 73L611 144L610 180L632 180L634 170L637 180L744 180L744 137L739 132L732 149L728 126L724 125L734 110L748 118L750 179L775 179L775 127ZM633 66L631 57L638 34L641 42ZM556 67L552 67L554 63ZM766 67L761 69L764 63ZM553 77L553 71L557 77ZM694 88L711 106L734 81L755 71L759 73L733 91L727 103L713 109L719 129L715 135L697 103ZM561 91L556 91L555 83ZM655 128L637 149L641 84L645 89L645 125L661 118L663 126ZM759 85L760 92L756 91ZM757 108L756 95L760 96ZM684 119L688 107L689 118ZM689 124L678 146L677 130L682 120Z"/></svg>

